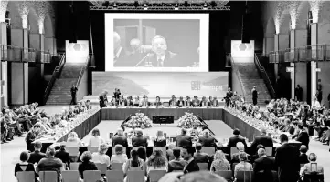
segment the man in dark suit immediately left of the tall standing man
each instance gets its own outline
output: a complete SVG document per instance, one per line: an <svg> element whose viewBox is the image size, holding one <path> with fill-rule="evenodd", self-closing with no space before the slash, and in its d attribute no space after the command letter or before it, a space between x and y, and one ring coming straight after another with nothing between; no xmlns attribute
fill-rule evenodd
<svg viewBox="0 0 330 182"><path fill-rule="evenodd" d="M271 170L274 167L275 161L267 157L266 151L263 148L258 150L259 158L254 161L253 172L256 182L273 181Z"/></svg>

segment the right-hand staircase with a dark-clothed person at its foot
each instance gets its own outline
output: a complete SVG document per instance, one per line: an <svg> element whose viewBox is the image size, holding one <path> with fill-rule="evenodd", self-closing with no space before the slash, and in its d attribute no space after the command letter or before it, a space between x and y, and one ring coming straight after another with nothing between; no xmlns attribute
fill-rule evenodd
<svg viewBox="0 0 330 182"><path fill-rule="evenodd" d="M251 90L253 86L257 86L258 95L258 103L264 104L265 101L271 100L271 95L268 92L267 86L265 85L261 76L259 76L259 72L257 67L253 62L251 63L235 63L236 69L238 69L240 73L240 82L245 93L245 100L247 103L252 103L252 93Z"/></svg>

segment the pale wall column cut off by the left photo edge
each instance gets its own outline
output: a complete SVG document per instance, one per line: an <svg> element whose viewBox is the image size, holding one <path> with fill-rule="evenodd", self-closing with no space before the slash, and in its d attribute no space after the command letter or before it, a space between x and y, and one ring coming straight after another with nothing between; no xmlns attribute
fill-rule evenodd
<svg viewBox="0 0 330 182"><path fill-rule="evenodd" d="M0 45L4 45L0 48L0 59L6 58L7 47L7 27L5 22L0 22ZM0 60L0 108L2 106L8 105L8 66L7 62L2 62Z"/></svg>

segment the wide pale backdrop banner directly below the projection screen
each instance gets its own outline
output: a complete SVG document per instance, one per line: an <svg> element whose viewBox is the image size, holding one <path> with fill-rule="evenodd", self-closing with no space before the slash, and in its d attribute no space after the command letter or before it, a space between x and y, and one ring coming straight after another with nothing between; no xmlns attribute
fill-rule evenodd
<svg viewBox="0 0 330 182"><path fill-rule="evenodd" d="M226 95L228 72L93 72L92 94L119 88L123 96L168 97ZM110 94L112 96L112 94Z"/></svg>

